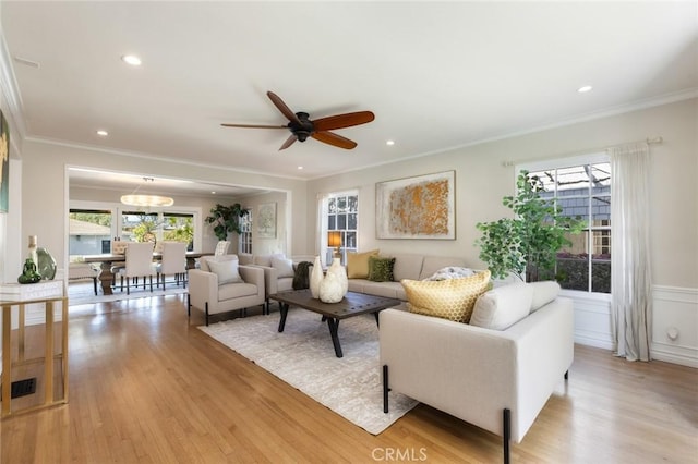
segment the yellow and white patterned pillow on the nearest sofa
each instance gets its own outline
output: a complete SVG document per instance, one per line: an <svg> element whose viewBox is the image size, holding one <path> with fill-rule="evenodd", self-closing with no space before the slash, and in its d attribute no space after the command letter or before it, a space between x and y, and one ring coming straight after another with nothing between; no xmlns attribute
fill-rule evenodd
<svg viewBox="0 0 698 464"><path fill-rule="evenodd" d="M436 281L404 279L400 283L405 288L409 302L407 306L411 313L467 323L478 296L488 290L490 271Z"/></svg>

